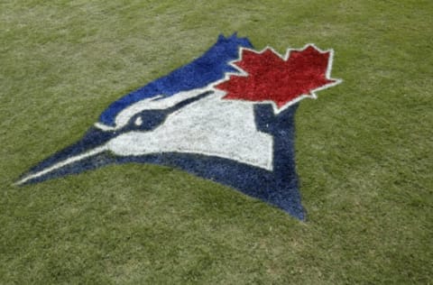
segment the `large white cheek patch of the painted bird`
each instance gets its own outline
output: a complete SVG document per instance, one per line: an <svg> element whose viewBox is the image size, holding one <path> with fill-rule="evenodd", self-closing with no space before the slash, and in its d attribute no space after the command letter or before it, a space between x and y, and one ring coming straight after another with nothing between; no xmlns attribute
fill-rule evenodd
<svg viewBox="0 0 433 285"><path fill-rule="evenodd" d="M122 156L198 153L272 170L272 135L257 131L253 102L221 99L224 95L216 90L169 115L152 132L120 134L107 149Z"/></svg>

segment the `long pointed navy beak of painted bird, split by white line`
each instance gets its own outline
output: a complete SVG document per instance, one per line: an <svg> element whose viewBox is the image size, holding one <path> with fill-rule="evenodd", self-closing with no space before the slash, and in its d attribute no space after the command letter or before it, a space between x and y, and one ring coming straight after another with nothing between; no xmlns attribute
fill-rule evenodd
<svg viewBox="0 0 433 285"><path fill-rule="evenodd" d="M15 182L16 185L31 184L91 170L109 163L106 142L117 135L114 131L102 131L91 127L84 137L69 147L56 152Z"/></svg>

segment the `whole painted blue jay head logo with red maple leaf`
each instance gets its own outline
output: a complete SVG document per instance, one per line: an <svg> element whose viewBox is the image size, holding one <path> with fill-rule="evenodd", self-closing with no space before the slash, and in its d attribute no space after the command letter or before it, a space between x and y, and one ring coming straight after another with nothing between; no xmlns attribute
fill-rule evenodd
<svg viewBox="0 0 433 285"><path fill-rule="evenodd" d="M197 60L121 97L84 137L17 184L143 162L180 168L304 219L294 159L302 98L335 86L333 51L309 44L285 55L219 36Z"/></svg>

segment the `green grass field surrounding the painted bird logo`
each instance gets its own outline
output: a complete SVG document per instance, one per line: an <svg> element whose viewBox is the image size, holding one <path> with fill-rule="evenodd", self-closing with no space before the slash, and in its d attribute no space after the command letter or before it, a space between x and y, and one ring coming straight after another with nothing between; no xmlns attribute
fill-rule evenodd
<svg viewBox="0 0 433 285"><path fill-rule="evenodd" d="M433 283L433 2L1 1L0 283ZM16 187L222 32L335 50L297 112L305 223L180 170Z"/></svg>

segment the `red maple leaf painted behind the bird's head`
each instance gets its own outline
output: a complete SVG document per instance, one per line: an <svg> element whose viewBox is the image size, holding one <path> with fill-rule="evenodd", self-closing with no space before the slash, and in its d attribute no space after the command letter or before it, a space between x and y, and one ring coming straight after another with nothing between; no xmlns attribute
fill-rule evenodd
<svg viewBox="0 0 433 285"><path fill-rule="evenodd" d="M331 52L309 45L301 51L290 51L290 57L284 60L270 48L262 52L244 49L233 65L246 75L230 75L215 87L226 91L225 99L272 101L278 112L303 97L316 97L314 91L339 82L328 78Z"/></svg>

